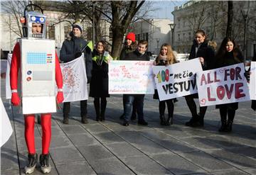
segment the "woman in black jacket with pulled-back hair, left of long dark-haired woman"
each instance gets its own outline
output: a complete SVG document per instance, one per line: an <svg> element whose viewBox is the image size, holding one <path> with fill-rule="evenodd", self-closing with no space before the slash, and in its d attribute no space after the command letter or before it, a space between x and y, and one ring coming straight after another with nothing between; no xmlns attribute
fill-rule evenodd
<svg viewBox="0 0 256 175"><path fill-rule="evenodd" d="M195 40L193 40L193 45L191 47L191 52L188 60L199 57L203 70L214 69L215 68L215 52L212 47L208 45L206 40L207 36L203 30L198 30L195 35ZM198 94L192 94L185 96L188 108L191 111L192 118L186 122L186 126L198 127L203 126L203 118L206 114L207 106L200 107L199 115L196 110L196 103L194 98L198 98Z"/></svg>

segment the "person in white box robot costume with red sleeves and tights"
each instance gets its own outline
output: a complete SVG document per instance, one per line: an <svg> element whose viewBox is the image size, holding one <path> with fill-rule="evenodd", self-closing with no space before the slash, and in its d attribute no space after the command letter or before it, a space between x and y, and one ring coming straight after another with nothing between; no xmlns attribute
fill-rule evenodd
<svg viewBox="0 0 256 175"><path fill-rule="evenodd" d="M36 6L29 4L28 6ZM56 101L63 101L63 77L55 53L55 41L46 40L46 16L36 11L24 10L23 38L18 39L11 58L11 103L22 104L25 120L25 140L28 147L28 164L25 173L31 174L36 168L34 125L35 114L41 113L42 154L40 155L43 174L51 170L49 164L49 147L51 137L51 114L56 112ZM58 86L55 97L55 82ZM21 87L18 88L18 85ZM21 100L18 91L21 90Z"/></svg>

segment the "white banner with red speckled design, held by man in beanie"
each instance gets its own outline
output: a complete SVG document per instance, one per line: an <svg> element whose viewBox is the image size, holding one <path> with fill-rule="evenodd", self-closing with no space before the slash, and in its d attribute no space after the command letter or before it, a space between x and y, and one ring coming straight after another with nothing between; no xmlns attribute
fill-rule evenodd
<svg viewBox="0 0 256 175"><path fill-rule="evenodd" d="M71 62L61 63L60 67L63 73L63 102L87 100L87 77L83 54Z"/></svg>

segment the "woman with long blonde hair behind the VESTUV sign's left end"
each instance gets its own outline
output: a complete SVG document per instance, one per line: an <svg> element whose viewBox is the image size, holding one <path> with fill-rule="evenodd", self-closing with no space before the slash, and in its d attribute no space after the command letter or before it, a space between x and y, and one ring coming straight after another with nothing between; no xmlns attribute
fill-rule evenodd
<svg viewBox="0 0 256 175"><path fill-rule="evenodd" d="M176 63L176 57L174 56L174 52L171 49L171 45L169 44L164 44L161 45L161 50L159 52L159 56L156 57L156 60L154 61L155 66L167 66L169 64L174 64ZM159 94L157 90L155 90L154 99L159 99ZM168 118L164 117L164 112L167 104L167 110L168 110ZM160 118L160 124L161 125L171 125L173 124L174 120L174 101L173 99L168 99L165 101L159 101L159 118Z"/></svg>

